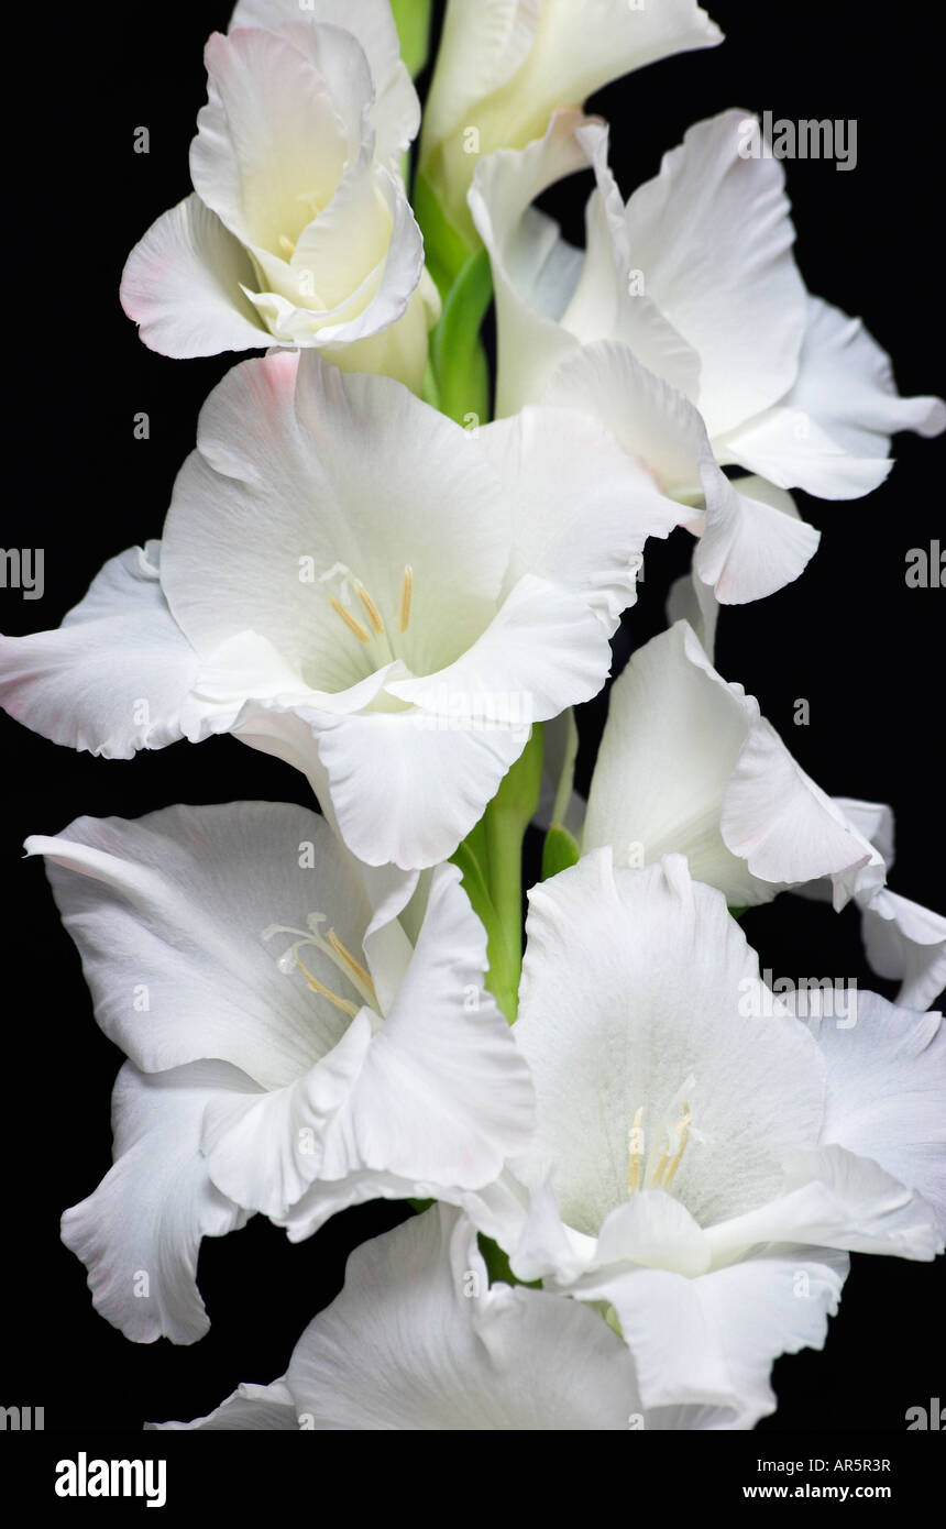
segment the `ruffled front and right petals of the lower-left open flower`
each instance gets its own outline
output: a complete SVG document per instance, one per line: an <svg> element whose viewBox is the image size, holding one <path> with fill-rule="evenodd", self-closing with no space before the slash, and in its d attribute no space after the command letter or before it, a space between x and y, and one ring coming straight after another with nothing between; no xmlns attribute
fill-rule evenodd
<svg viewBox="0 0 946 1529"><path fill-rule="evenodd" d="M373 1173L451 1190L495 1179L529 1139L532 1084L484 969L460 873L440 867L384 1024L362 1009L296 1084L211 1102L203 1151L219 1188L286 1220L316 1180L333 1180L341 1208L348 1183L356 1203Z"/></svg>

